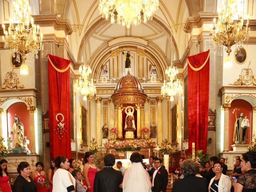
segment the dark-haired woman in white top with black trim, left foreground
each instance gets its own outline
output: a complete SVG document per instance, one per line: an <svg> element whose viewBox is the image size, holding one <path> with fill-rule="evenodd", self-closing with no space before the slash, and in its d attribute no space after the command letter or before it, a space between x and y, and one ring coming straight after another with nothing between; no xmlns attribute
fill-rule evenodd
<svg viewBox="0 0 256 192"><path fill-rule="evenodd" d="M55 159L55 166L58 168L53 176L52 192L75 192L76 179L68 172L70 163L65 156L58 156Z"/></svg>

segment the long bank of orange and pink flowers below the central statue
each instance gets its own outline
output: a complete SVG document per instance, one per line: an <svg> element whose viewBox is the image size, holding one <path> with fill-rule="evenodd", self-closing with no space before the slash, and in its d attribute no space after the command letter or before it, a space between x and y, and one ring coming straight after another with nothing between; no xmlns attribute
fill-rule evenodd
<svg viewBox="0 0 256 192"><path fill-rule="evenodd" d="M151 139L135 140L109 140L104 144L106 148L114 148L117 151L139 151L141 148L155 147L156 142Z"/></svg>

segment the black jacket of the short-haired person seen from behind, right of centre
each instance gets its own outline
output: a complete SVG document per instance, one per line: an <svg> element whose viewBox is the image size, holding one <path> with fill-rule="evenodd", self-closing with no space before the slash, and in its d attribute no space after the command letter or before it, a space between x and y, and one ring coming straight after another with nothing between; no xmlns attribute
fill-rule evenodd
<svg viewBox="0 0 256 192"><path fill-rule="evenodd" d="M185 176L173 183L172 192L208 192L206 178Z"/></svg>

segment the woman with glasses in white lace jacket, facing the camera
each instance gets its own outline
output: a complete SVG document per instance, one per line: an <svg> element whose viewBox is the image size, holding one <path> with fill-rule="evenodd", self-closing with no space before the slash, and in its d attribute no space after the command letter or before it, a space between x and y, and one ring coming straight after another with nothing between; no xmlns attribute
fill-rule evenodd
<svg viewBox="0 0 256 192"><path fill-rule="evenodd" d="M209 192L230 192L231 180L229 176L222 174L222 164L220 161L214 162L213 171L216 176L210 181Z"/></svg>

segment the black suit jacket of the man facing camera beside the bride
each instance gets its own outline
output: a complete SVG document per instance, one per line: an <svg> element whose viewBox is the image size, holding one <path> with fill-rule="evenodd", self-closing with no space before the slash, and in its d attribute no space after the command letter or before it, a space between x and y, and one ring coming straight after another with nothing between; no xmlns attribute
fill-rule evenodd
<svg viewBox="0 0 256 192"><path fill-rule="evenodd" d="M155 171L154 168L151 169L152 179L153 179L154 171ZM163 168L163 166L161 166L158 169L156 176L154 178L153 191L154 192L166 191L167 184L168 184L168 172L165 168Z"/></svg>

